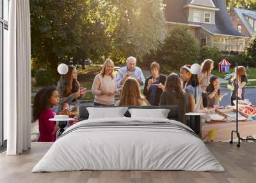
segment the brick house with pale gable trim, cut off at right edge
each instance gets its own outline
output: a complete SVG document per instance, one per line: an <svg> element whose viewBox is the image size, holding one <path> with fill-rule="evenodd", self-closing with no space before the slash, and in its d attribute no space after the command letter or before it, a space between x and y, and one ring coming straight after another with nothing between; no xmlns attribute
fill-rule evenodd
<svg viewBox="0 0 256 183"><path fill-rule="evenodd" d="M230 20L234 28L240 33L252 37L256 31L256 12L233 8L230 13Z"/></svg>

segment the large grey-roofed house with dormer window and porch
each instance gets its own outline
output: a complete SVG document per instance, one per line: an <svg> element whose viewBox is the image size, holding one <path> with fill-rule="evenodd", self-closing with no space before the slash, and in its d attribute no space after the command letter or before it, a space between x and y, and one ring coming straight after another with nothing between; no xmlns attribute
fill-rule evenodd
<svg viewBox="0 0 256 183"><path fill-rule="evenodd" d="M168 30L186 24L198 47L244 51L247 37L233 28L225 0L165 0L164 4Z"/></svg>

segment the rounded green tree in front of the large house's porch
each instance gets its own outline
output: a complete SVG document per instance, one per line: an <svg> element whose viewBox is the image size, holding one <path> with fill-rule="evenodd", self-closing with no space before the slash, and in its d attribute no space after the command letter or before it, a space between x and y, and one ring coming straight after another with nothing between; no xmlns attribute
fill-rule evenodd
<svg viewBox="0 0 256 183"><path fill-rule="evenodd" d="M177 25L166 36L161 52L159 52L164 64L180 68L182 65L197 61L198 45L188 30L188 26Z"/></svg>

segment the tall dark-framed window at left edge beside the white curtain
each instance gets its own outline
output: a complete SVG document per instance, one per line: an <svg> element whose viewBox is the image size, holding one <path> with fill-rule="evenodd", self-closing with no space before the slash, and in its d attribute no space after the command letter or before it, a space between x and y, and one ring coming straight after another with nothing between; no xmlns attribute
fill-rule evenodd
<svg viewBox="0 0 256 183"><path fill-rule="evenodd" d="M3 122L3 63L7 59L9 0L0 0L0 147L6 135L6 123Z"/></svg>

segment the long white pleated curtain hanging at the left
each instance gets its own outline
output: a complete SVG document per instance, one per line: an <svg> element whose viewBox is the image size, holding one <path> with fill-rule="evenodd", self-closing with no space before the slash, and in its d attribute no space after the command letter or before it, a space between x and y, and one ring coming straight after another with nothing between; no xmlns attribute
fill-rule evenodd
<svg viewBox="0 0 256 183"><path fill-rule="evenodd" d="M4 120L8 155L30 148L31 51L29 0L11 0L9 60L4 61Z"/></svg>

